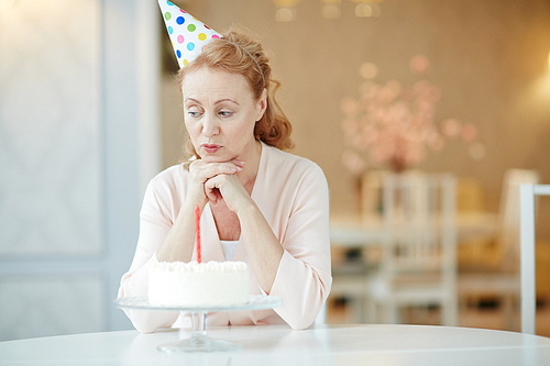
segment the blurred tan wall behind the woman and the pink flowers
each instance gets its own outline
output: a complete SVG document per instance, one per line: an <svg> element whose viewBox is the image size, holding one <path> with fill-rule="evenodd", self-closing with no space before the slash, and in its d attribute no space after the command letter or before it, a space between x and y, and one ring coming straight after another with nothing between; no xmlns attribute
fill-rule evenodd
<svg viewBox="0 0 550 366"><path fill-rule="evenodd" d="M283 82L280 102L294 124L294 153L323 168L334 213L358 206L353 176L341 163L341 99L358 97L359 67L365 62L378 66L380 82L411 84L408 62L416 54L430 58L429 80L443 91L436 120L475 124L486 147L486 157L476 162L464 144L451 143L419 168L477 178L495 211L507 168L534 168L550 182L547 0L385 0L382 16L372 19L356 18L354 3L342 0L339 20L322 19L320 1L302 0L289 23L275 21L275 7L267 0L175 2L219 31L245 25L273 51L273 67ZM177 101L173 90L165 93ZM178 104L167 104L176 109L164 112L165 166L179 154L182 115ZM541 219L549 222L547 201ZM542 234L550 237L549 230Z"/></svg>

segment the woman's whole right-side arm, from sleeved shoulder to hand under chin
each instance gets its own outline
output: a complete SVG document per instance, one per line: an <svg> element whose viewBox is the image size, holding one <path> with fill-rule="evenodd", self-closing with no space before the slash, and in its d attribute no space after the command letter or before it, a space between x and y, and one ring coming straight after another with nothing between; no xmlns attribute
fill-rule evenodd
<svg viewBox="0 0 550 366"><path fill-rule="evenodd" d="M242 185L232 177L216 177L206 182L218 188L241 223L241 240L246 245L254 275L267 293L282 297L276 312L294 329L309 326L321 310L332 284L330 270L329 196L322 170L309 166L286 185L285 197L271 200L287 218L277 239ZM275 185L276 186L276 185ZM292 188L289 188L292 187ZM277 195L279 191L275 190ZM280 209L280 210L278 210Z"/></svg>

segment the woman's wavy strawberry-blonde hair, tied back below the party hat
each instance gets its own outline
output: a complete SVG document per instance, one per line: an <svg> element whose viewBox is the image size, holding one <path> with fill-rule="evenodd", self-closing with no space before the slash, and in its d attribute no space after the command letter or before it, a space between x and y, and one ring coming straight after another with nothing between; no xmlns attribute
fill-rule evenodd
<svg viewBox="0 0 550 366"><path fill-rule="evenodd" d="M254 126L254 137L280 149L294 147L290 140L293 127L275 99L280 82L272 77L272 69L262 44L241 27L231 27L222 36L210 41L197 58L179 69L177 74L179 90L185 76L201 67L242 75L255 100L262 97L264 88L267 91L267 108ZM187 140L186 151L197 157L190 140Z"/></svg>

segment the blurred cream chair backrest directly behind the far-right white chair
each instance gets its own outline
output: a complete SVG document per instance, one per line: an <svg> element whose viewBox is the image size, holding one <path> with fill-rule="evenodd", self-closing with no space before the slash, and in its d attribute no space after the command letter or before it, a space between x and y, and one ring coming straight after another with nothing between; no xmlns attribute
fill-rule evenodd
<svg viewBox="0 0 550 366"><path fill-rule="evenodd" d="M504 174L496 226L503 251L502 270L517 271L519 268L519 186L538 182L536 170L508 169Z"/></svg>

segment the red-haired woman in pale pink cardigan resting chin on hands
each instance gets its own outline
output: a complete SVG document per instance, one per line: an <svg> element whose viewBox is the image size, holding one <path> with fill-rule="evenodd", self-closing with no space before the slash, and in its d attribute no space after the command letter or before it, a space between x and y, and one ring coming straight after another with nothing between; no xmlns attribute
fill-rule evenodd
<svg viewBox="0 0 550 366"><path fill-rule="evenodd" d="M290 124L274 99L279 84L261 44L229 31L178 76L193 157L150 182L119 297L146 296L153 263L195 258L198 204L202 260L245 262L251 293L283 298L280 308L211 313L208 323L309 326L331 286L328 187L316 164L282 151L292 146ZM127 313L141 332L178 318Z"/></svg>

